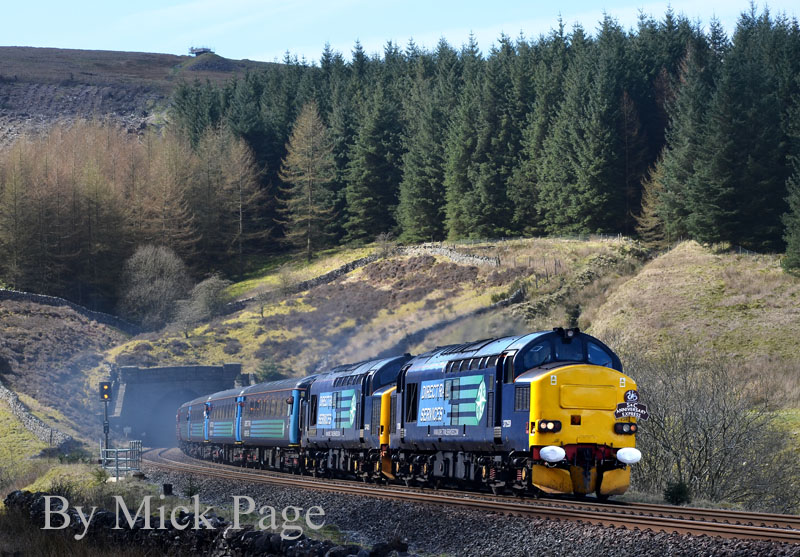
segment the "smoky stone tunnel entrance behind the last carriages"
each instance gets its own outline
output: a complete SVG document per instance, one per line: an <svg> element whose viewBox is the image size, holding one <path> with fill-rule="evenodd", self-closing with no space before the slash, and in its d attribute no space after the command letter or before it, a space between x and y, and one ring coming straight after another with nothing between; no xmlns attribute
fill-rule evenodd
<svg viewBox="0 0 800 557"><path fill-rule="evenodd" d="M139 368L112 372L111 427L119 438L141 439L146 447L173 447L175 414L188 400L241 384L241 364Z"/></svg>

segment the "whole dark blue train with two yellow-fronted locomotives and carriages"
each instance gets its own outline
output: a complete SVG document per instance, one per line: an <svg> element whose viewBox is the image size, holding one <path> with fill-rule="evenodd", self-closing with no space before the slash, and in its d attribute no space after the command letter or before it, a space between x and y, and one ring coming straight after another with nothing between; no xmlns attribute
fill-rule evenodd
<svg viewBox="0 0 800 557"><path fill-rule="evenodd" d="M648 416L617 354L559 327L203 396L176 435L240 466L605 500L628 489Z"/></svg>

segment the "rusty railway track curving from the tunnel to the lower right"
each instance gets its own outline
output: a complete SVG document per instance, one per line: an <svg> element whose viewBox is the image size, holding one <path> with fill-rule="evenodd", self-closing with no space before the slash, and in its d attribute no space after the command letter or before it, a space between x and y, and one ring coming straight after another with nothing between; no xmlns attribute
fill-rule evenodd
<svg viewBox="0 0 800 557"><path fill-rule="evenodd" d="M162 470L203 475L225 480L292 486L350 495L392 499L410 503L448 505L463 509L514 516L568 520L626 528L707 535L723 538L769 540L800 544L800 516L748 513L721 509L701 509L642 503L595 503L559 499L520 500L474 492L377 486L353 481L329 481L279 472L191 461L177 449L151 449L143 459Z"/></svg>

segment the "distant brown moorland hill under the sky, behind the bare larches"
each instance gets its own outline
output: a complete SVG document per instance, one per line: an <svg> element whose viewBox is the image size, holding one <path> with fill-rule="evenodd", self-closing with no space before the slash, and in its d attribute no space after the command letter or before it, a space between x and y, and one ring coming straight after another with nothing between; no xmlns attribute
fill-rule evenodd
<svg viewBox="0 0 800 557"><path fill-rule="evenodd" d="M217 54L0 47L0 148L76 118L109 118L135 132L164 121L181 82L221 83L268 65Z"/></svg>

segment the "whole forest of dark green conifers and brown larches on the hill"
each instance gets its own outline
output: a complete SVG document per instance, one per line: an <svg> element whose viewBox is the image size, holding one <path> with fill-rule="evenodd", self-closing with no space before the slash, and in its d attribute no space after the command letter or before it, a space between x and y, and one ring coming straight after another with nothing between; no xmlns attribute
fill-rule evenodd
<svg viewBox="0 0 800 557"><path fill-rule="evenodd" d="M0 152L0 283L97 309L146 244L236 278L381 235L585 234L800 266L797 20L753 7L723 29L668 11L487 50L326 46L178 86L157 131L83 123Z"/></svg>

